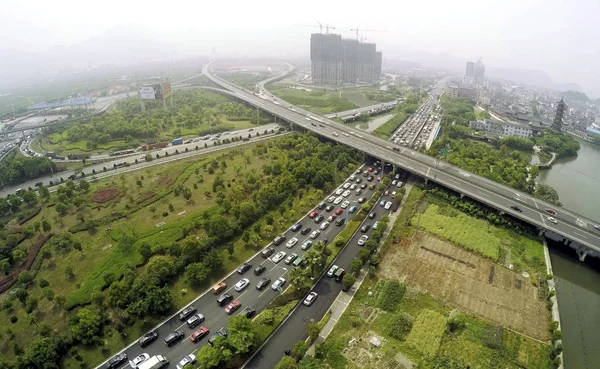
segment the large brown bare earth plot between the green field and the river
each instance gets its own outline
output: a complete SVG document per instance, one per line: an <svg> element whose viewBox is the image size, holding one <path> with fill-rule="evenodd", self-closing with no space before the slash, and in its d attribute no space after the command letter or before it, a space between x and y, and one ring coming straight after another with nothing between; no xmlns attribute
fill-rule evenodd
<svg viewBox="0 0 600 369"><path fill-rule="evenodd" d="M451 243L419 233L389 250L380 278L409 286L538 340L550 339L545 304L529 279Z"/></svg>

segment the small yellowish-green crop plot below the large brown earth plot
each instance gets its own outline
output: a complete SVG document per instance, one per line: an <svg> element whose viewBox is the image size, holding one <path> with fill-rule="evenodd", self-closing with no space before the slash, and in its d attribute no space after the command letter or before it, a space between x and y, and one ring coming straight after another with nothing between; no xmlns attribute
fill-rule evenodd
<svg viewBox="0 0 600 369"><path fill-rule="evenodd" d="M417 316L406 344L427 356L435 356L445 330L445 316L432 310L423 310Z"/></svg>

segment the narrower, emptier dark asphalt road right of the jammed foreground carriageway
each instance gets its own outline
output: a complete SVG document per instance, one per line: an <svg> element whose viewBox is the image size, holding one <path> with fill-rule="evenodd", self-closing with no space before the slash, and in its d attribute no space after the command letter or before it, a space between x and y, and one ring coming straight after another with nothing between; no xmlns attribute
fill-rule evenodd
<svg viewBox="0 0 600 369"><path fill-rule="evenodd" d="M406 183L408 179L408 173L403 173L401 181ZM394 204L391 209L396 209L397 203L391 196L392 191L397 191L399 188L390 186L390 194L382 195L380 200L392 201ZM350 239L347 246L340 252L338 257L334 260L333 264L345 271L348 271L352 260L358 255L359 250L362 246L358 246L358 240L364 234L371 236L373 232L373 224L381 220L381 218L389 214L392 210L385 210L384 207L379 205L373 207L371 213L375 213L375 218L370 219L366 217L361 227L364 224L369 224L370 228L367 232L363 233L360 228ZM388 225L389 227L392 224ZM319 294L319 297L311 306L299 305L296 310L292 312L290 317L279 327L279 329L269 338L269 340L257 351L247 363L243 366L246 369L263 369L263 368L274 368L277 363L281 360L286 349L291 349L292 346L298 341L304 341L308 337L307 326L311 322L320 321L323 316L329 311L331 305L342 290L342 285L336 282L334 278L324 276L313 288L312 291Z"/></svg>

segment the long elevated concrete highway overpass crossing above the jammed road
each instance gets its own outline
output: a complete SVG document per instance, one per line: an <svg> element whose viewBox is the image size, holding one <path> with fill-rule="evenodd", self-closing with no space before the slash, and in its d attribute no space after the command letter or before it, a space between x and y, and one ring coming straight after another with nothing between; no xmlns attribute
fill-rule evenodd
<svg viewBox="0 0 600 369"><path fill-rule="evenodd" d="M562 235L585 246L590 252L600 253L600 232L594 229L594 225L598 223L592 220L583 219L581 215L568 209L555 209L553 205L535 199L529 194L467 172L448 163L441 162L438 164L436 158L407 148L397 147L368 133L356 133L352 128L324 117L319 117L323 123L317 123L307 118L298 108L287 103L285 107L274 104L213 76L209 67L210 65L207 65L203 73L214 83L234 92L237 98L268 111L282 120L359 149L373 157L409 170L499 211L529 222L541 230L550 230ZM315 114L311 115L316 116ZM514 210L511 206L517 206L521 211ZM553 218L557 220L557 223L548 218L551 214L548 214L545 211L546 209L556 211L557 214ZM578 220L583 223L578 222Z"/></svg>

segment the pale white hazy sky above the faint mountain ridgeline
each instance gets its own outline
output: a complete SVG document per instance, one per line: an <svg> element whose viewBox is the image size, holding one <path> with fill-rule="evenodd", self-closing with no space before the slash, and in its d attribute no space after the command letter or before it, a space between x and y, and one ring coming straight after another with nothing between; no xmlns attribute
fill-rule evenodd
<svg viewBox="0 0 600 369"><path fill-rule="evenodd" d="M72 45L115 26L149 34L202 34L225 30L290 29L293 24L333 24L352 36L351 27L385 30L365 33L387 48L410 48L474 59L490 67L541 69L556 82L576 82L600 91L600 1L203 1L170 0L2 0L0 49L32 50ZM293 4L293 5L290 5ZM287 27L287 28L286 28ZM316 30L316 29L315 29ZM292 31L290 31L292 32ZM233 34L227 32L228 34ZM280 38L275 32L274 38ZM256 40L256 47L268 44ZM308 48L306 49L306 54Z"/></svg>

